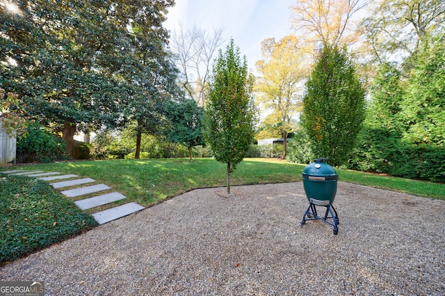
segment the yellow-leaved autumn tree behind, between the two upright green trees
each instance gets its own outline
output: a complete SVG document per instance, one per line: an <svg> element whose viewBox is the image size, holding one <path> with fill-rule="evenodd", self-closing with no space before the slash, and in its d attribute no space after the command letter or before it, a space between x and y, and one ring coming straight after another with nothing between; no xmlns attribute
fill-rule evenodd
<svg viewBox="0 0 445 296"><path fill-rule="evenodd" d="M284 144L282 159L285 159L291 119L300 109L299 93L304 86L302 81L307 77L307 49L295 36L286 36L279 42L269 38L261 45L264 60L257 61L257 104L272 111L268 123L280 127ZM273 122L270 122L272 118Z"/></svg>

